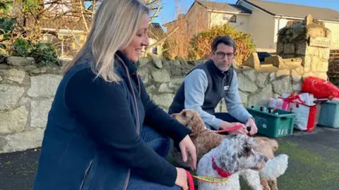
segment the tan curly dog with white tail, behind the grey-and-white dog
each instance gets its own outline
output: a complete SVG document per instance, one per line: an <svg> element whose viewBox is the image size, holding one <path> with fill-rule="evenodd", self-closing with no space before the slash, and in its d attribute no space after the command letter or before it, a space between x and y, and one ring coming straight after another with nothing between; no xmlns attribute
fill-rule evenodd
<svg viewBox="0 0 339 190"><path fill-rule="evenodd" d="M203 120L195 110L182 110L181 113L173 113L172 117L192 129L190 137L196 146L198 160L212 148L219 146L222 139L225 138L223 134L206 129ZM263 153L269 161L260 171L244 170L240 172L240 175L251 189L277 190L277 178L285 173L288 165L288 156L285 154L274 155L274 152L278 150L278 142L274 139L254 137L254 141L256 142L254 151ZM190 159L186 163L182 161L181 153L175 147L172 149L172 155L178 165L182 167L189 167L191 165Z"/></svg>

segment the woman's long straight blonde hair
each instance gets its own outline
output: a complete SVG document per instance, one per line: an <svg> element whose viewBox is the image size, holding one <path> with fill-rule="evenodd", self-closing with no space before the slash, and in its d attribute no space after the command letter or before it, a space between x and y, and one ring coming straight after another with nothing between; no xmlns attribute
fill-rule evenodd
<svg viewBox="0 0 339 190"><path fill-rule="evenodd" d="M93 56L90 65L107 82L118 82L114 72L114 54L128 46L138 30L148 7L138 0L102 0L83 47L65 67L65 72L76 63Z"/></svg>

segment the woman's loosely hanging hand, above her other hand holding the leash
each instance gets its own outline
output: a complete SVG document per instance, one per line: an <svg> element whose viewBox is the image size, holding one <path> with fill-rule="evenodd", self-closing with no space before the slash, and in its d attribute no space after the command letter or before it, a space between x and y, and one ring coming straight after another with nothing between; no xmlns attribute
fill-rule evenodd
<svg viewBox="0 0 339 190"><path fill-rule="evenodd" d="M194 146L189 135L186 135L186 137L180 141L179 147L182 151L182 160L184 160L184 162L187 161L186 151L188 151L192 158L191 169L196 170L196 146Z"/></svg>

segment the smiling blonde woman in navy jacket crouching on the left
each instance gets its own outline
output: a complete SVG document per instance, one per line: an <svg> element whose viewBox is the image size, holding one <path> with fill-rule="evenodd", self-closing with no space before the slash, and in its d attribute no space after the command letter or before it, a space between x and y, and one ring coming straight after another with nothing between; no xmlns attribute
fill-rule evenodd
<svg viewBox="0 0 339 190"><path fill-rule="evenodd" d="M191 131L150 100L136 74L147 28L139 1L102 1L54 97L34 189L188 189L186 171L166 156L170 137L196 169Z"/></svg>

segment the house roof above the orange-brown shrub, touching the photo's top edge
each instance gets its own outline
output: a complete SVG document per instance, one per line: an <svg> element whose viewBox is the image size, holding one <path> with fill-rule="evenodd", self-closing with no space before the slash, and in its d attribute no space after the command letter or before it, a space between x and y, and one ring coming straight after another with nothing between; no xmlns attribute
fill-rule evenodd
<svg viewBox="0 0 339 190"><path fill-rule="evenodd" d="M213 1L200 1L196 0L196 3L204 6L207 9L215 10L215 11L231 11L237 13L252 13L251 10L245 8L244 6L237 5L237 4L226 4L220 2L213 2ZM195 3L194 2L194 3Z"/></svg>

